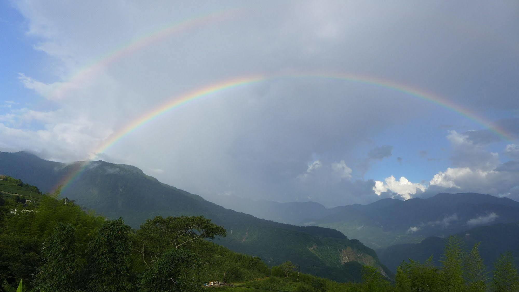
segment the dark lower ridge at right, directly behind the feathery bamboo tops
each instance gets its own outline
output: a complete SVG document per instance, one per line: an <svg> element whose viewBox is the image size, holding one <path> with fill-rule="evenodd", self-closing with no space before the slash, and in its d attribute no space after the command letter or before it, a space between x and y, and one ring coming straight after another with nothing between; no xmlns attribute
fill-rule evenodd
<svg viewBox="0 0 519 292"><path fill-rule="evenodd" d="M462 238L467 249L481 242L479 250L485 265L491 269L491 263L495 262L499 254L511 251L519 265L519 224L494 224L472 228L465 232L455 234ZM377 254L382 262L396 272L397 266L403 260L412 258L423 262L431 255L435 265L440 266L443 254L444 239L430 237L420 243L393 245L384 249L377 249Z"/></svg>

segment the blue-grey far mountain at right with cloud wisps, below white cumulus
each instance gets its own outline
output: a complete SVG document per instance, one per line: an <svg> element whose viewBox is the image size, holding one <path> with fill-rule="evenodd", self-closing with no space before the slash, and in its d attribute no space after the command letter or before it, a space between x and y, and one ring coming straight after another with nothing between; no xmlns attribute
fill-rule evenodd
<svg viewBox="0 0 519 292"><path fill-rule="evenodd" d="M383 199L335 207L315 220L372 248L418 243L472 227L519 221L519 202L480 193L439 193L428 199Z"/></svg>

